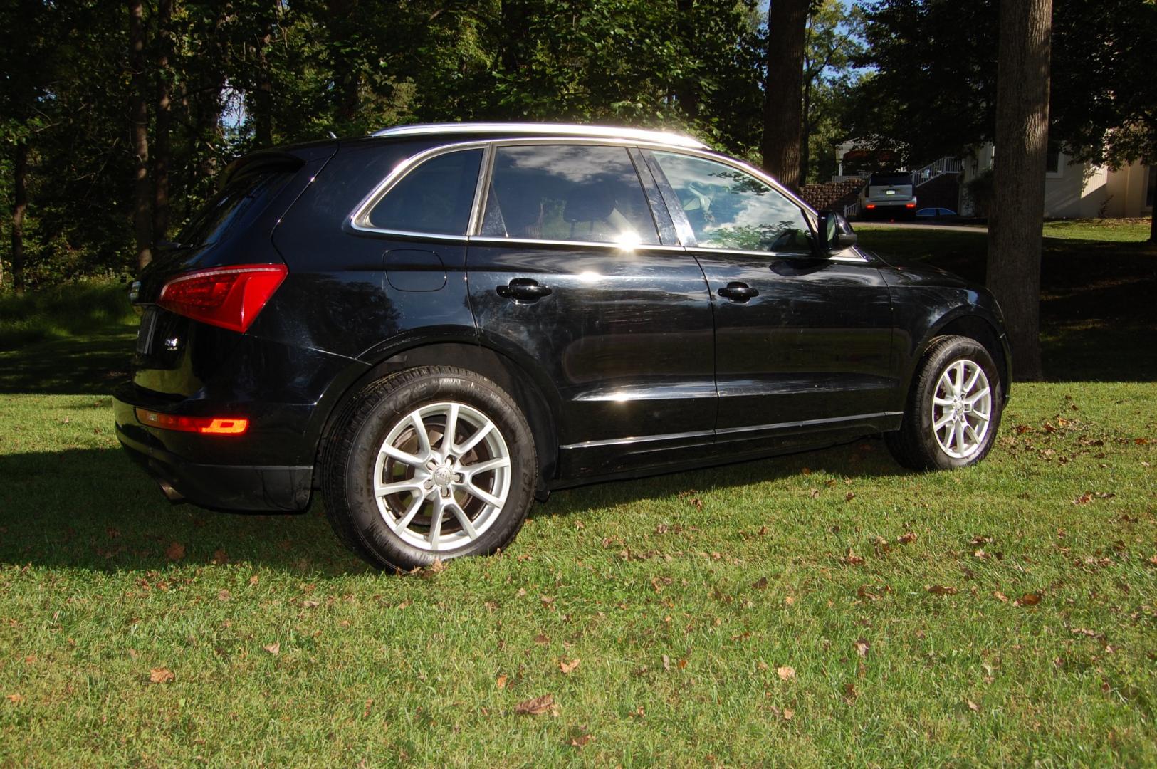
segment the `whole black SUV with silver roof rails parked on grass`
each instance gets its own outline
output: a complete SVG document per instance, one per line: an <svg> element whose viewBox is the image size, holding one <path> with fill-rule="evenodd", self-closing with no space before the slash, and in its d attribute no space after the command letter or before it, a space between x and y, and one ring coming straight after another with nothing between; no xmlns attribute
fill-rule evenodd
<svg viewBox="0 0 1157 769"><path fill-rule="evenodd" d="M404 126L235 162L133 283L117 436L171 500L304 510L395 568L492 553L596 480L887 439L992 446L983 288L857 249L668 133Z"/></svg>

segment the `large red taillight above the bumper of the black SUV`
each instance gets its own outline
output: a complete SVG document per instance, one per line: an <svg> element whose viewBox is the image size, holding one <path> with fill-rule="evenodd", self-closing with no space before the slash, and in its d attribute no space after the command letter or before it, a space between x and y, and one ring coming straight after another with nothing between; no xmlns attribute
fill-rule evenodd
<svg viewBox="0 0 1157 769"><path fill-rule="evenodd" d="M174 278L157 304L177 315L245 332L289 271L285 265L230 265Z"/></svg>

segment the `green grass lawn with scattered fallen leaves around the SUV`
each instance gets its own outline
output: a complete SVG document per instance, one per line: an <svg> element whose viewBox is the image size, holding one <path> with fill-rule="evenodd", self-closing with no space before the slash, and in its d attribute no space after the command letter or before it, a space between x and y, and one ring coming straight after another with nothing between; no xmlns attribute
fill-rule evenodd
<svg viewBox="0 0 1157 769"><path fill-rule="evenodd" d="M1122 296L1057 247L1046 305ZM1157 763L1149 337L1056 331L1084 363L1017 384L966 471L868 439L563 491L508 553L393 577L320 501L165 503L112 435L125 332L0 354L0 767Z"/></svg>

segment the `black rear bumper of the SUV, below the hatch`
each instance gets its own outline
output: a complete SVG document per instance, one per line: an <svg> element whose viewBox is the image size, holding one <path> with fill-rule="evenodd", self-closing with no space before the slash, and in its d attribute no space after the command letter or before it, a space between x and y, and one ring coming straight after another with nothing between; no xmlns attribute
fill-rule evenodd
<svg viewBox="0 0 1157 769"><path fill-rule="evenodd" d="M165 431L138 423L133 404L120 398L113 398L112 404L120 444L162 488L168 486L176 493L165 491L171 500L184 497L194 504L218 510L283 512L301 511L309 506L312 466L192 461L165 446L161 439L161 434ZM204 436L199 439L205 443L222 441L219 436Z"/></svg>

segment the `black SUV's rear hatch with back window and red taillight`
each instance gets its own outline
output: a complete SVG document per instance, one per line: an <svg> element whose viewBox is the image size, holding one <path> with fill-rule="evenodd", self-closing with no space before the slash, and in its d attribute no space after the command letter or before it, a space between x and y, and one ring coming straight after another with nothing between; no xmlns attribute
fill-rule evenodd
<svg viewBox="0 0 1157 769"><path fill-rule="evenodd" d="M236 161L176 241L154 254L130 293L141 316L133 357L138 387L186 398L233 353L264 305L260 293L275 290L287 269L273 228L336 148Z"/></svg>

